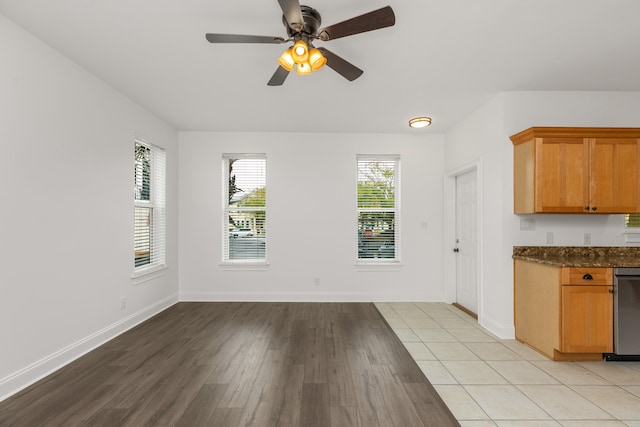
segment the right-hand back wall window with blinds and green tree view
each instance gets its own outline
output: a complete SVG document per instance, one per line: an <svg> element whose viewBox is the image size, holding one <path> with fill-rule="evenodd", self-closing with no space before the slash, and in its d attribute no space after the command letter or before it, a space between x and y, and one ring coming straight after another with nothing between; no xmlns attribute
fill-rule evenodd
<svg viewBox="0 0 640 427"><path fill-rule="evenodd" d="M398 261L400 159L358 156L358 260Z"/></svg>

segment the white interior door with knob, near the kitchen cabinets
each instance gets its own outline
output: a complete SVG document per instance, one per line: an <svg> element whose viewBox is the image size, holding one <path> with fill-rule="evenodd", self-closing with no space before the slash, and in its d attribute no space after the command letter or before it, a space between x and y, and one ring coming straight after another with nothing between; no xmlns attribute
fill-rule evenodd
<svg viewBox="0 0 640 427"><path fill-rule="evenodd" d="M456 302L478 314L478 185L475 170L456 176Z"/></svg>

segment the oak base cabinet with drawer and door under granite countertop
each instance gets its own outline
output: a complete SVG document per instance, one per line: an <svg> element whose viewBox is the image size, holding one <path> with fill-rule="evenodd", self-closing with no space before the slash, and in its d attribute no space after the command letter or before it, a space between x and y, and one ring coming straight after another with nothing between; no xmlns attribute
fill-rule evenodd
<svg viewBox="0 0 640 427"><path fill-rule="evenodd" d="M516 339L553 360L613 351L613 270L515 260Z"/></svg>

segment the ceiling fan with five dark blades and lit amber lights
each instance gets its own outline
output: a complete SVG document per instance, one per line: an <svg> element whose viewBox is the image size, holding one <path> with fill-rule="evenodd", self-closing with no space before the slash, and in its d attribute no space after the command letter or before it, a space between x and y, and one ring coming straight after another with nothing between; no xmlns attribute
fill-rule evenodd
<svg viewBox="0 0 640 427"><path fill-rule="evenodd" d="M323 42L335 40L391 27L396 23L393 9L386 6L328 27L319 28L322 20L317 10L309 6L301 6L298 0L278 0L278 3L280 3L283 13L282 22L289 36L287 39L243 34L208 33L206 35L210 43L282 44L293 42L293 46L278 59L280 66L267 83L269 86L282 85L294 66L298 74L310 74L325 64L345 79L353 81L362 75L363 71L360 68L324 47L316 48L313 42L315 40Z"/></svg>

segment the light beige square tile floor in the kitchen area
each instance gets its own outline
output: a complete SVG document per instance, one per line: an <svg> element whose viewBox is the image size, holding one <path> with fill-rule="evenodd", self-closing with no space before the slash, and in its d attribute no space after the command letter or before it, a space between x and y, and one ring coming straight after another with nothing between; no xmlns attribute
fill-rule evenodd
<svg viewBox="0 0 640 427"><path fill-rule="evenodd" d="M376 306L463 427L640 427L640 362L553 362L449 304Z"/></svg>

